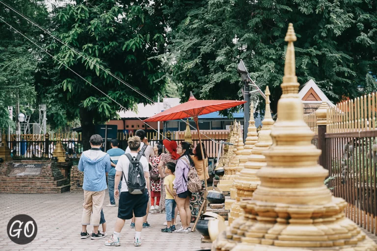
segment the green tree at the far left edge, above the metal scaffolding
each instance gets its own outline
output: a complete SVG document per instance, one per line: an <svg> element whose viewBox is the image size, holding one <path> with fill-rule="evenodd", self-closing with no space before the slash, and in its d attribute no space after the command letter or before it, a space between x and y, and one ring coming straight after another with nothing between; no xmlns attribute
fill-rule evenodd
<svg viewBox="0 0 377 251"><path fill-rule="evenodd" d="M41 25L48 23L48 11L44 0L3 2ZM43 31L29 24L3 4L0 4L0 18L0 127L7 128L9 124L12 125L7 106L15 106L18 101L21 105L33 104L35 101L34 73L40 58L39 50L9 25L38 44L42 43ZM17 115L16 110L14 115Z"/></svg>

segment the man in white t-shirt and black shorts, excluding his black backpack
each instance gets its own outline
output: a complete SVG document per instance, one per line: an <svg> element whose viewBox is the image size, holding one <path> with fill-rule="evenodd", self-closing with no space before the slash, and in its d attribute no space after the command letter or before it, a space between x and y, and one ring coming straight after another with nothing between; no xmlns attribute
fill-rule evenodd
<svg viewBox="0 0 377 251"><path fill-rule="evenodd" d="M130 154L136 158L140 150L140 138L137 136L128 139L128 146L130 147ZM146 182L146 189L142 194L130 194L128 191L127 180L129 173L130 160L126 155L120 156L115 170L115 184L114 195L119 197L118 218L116 219L114 233L110 239L105 242L106 246L120 246L119 234L122 230L125 220L130 220L135 215L135 246L140 246L141 229L143 227L143 217L147 213L147 205L149 202L150 194L150 180L149 180L149 165L146 157L141 156L139 163L142 165L144 177ZM118 190L119 181L123 174L122 188Z"/></svg>

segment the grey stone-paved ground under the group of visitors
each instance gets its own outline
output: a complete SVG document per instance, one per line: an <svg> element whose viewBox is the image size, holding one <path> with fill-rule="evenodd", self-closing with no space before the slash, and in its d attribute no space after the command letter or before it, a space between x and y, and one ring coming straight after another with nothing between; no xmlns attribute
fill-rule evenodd
<svg viewBox="0 0 377 251"><path fill-rule="evenodd" d="M80 239L83 194L0 194L0 251L196 251L200 250L200 234L162 233L165 214L149 214L149 228L141 232L141 247L134 247L135 229L126 224L120 234L120 247L106 247L104 239ZM108 192L105 205L108 204ZM27 214L37 223L38 234L29 244L13 243L7 233L9 220L18 215ZM111 235L117 218L117 207L104 207L107 232ZM181 226L180 224L178 226ZM192 226L192 224L191 224ZM100 229L102 227L100 226ZM91 233L92 226L88 226Z"/></svg>

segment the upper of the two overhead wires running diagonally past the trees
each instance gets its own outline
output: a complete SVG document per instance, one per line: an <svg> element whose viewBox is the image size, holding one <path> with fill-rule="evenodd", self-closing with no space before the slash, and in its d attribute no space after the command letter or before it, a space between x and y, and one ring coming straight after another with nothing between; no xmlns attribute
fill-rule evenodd
<svg viewBox="0 0 377 251"><path fill-rule="evenodd" d="M98 65L96 62L93 62L91 61L89 58L87 58L85 55L83 55L80 51L76 50L75 48L71 47L70 45L64 43L62 40L60 40L59 38L55 37L53 34L51 34L49 31L47 31L46 29L44 29L43 27L41 27L40 25L34 23L33 21L31 21L30 19L28 19L26 16L24 16L22 13L18 12L17 10L15 10L14 8L10 7L9 5L7 5L6 3L4 3L3 1L0 0L0 3L2 3L3 5L5 5L7 8L11 9L12 11L16 12L18 15L20 15L21 17L23 17L24 19L26 19L29 23L37 26L38 28L40 28L41 30L43 30L44 32L46 32L47 34L49 34L51 37L53 37L54 39L56 39L58 42L60 42L61 44L67 46L69 49L71 50L74 50L76 53L78 53L81 57L85 58L87 61L89 61L90 63L98 66L101 70L105 71L106 73L108 73L109 75L113 76L115 79L117 79L118 81L120 81L121 83L123 83L124 85L128 86L129 88L131 88L132 90L134 90L136 93L140 94L141 96L143 96L144 98L146 98L147 100L150 100L151 102L153 103L156 103L154 100L152 100L151 98L149 98L148 96L144 95L142 92L138 91L137 89L135 89L133 86L131 86L130 84L126 83L125 81L123 81L122 79L118 78L116 75L113 75L111 72L109 72L108 70L104 69L102 66ZM160 106L160 104L157 102L157 105ZM191 128L193 129L196 129L194 126L191 126L189 123L187 123L186 121L184 121L183 119L181 119L181 121L183 121L185 124L187 124L188 126L190 126ZM152 127L151 127L152 128ZM155 129L154 129L155 130ZM160 133L160 132L159 132ZM215 141L214 139L208 137L206 134L200 132L199 130L199 133L204 135L205 137L207 137L208 139L212 140L213 142L219 144L219 142Z"/></svg>

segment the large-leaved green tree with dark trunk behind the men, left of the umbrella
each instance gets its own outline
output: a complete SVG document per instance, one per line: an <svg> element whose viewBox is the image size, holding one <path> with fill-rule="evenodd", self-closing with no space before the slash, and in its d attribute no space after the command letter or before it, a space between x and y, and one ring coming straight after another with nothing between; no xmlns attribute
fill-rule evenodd
<svg viewBox="0 0 377 251"><path fill-rule="evenodd" d="M161 93L166 82L161 62L149 59L164 53L165 21L161 7L160 2L149 0L76 0L53 6L54 34L82 54L53 41L49 50L56 57L54 63L58 68L47 58L43 60L51 67L45 67L48 70L41 73L40 79L45 81L40 82L38 90L43 97L59 104L69 121L80 117L84 150L90 147L94 124L116 117L121 107L64 65L125 108L150 102L108 72L153 99ZM54 71L57 79L49 81Z"/></svg>

